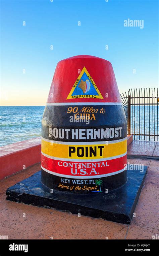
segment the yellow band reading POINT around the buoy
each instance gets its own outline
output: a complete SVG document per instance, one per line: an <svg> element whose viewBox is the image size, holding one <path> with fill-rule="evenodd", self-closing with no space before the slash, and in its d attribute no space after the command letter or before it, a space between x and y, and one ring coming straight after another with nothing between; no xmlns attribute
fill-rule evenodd
<svg viewBox="0 0 159 256"><path fill-rule="evenodd" d="M106 141L107 142L107 141ZM65 144L64 144L65 143ZM90 145L48 142L42 139L42 152L48 156L69 159L102 159L122 155L127 151L127 141L100 143Z"/></svg>

